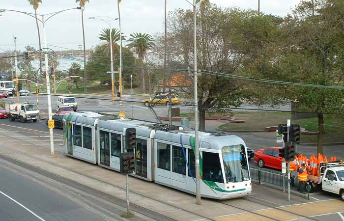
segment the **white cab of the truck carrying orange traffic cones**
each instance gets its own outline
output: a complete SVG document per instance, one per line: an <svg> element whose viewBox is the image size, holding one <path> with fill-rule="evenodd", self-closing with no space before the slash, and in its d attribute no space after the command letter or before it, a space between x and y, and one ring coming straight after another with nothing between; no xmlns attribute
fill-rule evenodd
<svg viewBox="0 0 344 221"><path fill-rule="evenodd" d="M321 187L323 191L339 194L344 201L344 167L326 169Z"/></svg>

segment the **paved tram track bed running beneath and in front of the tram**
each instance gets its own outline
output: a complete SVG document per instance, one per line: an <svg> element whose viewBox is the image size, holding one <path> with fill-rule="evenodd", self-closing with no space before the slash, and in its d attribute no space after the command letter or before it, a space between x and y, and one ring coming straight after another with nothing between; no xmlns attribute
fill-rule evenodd
<svg viewBox="0 0 344 221"><path fill-rule="evenodd" d="M62 138L62 137L61 137ZM37 136L19 135L0 127L0 158L21 165L73 188L93 190L108 202L125 211L125 176L100 166L62 154L55 146L56 157L49 157L50 146ZM195 196L134 177L130 181L131 208L138 220L177 221L344 221L344 202L337 195L319 193L311 200L287 195L278 190L253 184L249 196L229 200L202 198L195 205Z"/></svg>

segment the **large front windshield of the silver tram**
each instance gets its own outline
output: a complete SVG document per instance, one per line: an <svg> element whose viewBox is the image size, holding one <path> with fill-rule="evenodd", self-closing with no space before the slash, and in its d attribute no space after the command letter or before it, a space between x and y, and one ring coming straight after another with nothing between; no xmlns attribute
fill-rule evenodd
<svg viewBox="0 0 344 221"><path fill-rule="evenodd" d="M225 146L222 148L227 183L250 180L246 151L243 145Z"/></svg>

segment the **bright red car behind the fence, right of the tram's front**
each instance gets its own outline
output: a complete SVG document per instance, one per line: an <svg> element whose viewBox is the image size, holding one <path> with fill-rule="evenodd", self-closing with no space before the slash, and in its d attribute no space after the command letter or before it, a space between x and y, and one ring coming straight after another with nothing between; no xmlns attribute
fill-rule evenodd
<svg viewBox="0 0 344 221"><path fill-rule="evenodd" d="M255 150L255 162L259 167L272 167L282 169L283 158L279 156L282 147L270 147L267 149Z"/></svg>

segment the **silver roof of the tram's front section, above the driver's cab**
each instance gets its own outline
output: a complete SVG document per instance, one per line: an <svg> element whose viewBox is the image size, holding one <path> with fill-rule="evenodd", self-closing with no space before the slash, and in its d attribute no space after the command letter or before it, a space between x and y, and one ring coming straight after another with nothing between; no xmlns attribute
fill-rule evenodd
<svg viewBox="0 0 344 221"><path fill-rule="evenodd" d="M180 142L180 137L181 141ZM195 137L195 131L156 131L155 138L183 145L191 145L191 139ZM235 135L218 136L211 133L199 132L200 147L206 149L221 150L224 146L246 145L244 140ZM194 145L194 144L193 144Z"/></svg>

